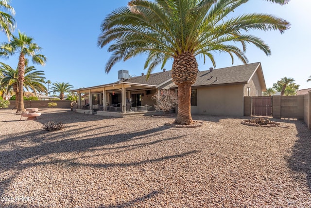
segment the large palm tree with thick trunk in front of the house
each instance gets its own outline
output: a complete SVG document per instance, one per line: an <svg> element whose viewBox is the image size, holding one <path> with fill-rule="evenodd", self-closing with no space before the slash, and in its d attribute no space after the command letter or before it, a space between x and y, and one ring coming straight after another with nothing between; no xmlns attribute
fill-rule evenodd
<svg viewBox="0 0 311 208"><path fill-rule="evenodd" d="M242 34L249 30L279 30L290 23L272 15L246 14L230 18L229 14L248 0L132 0L128 7L110 13L101 25L98 46L113 52L105 72L119 61L147 54L144 68L147 77L162 63L173 58L172 78L178 86L178 113L175 123L190 124L191 85L198 73L196 56L208 57L215 67L214 52L236 55L243 63L247 43L253 43L266 55L270 48L258 37ZM272 1L272 0L270 0ZM284 4L287 0L273 0ZM242 49L235 46L242 43Z"/></svg>

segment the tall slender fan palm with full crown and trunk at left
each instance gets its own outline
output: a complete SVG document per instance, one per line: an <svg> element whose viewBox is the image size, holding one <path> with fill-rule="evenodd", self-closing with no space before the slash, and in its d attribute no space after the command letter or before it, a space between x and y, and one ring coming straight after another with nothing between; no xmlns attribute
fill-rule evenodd
<svg viewBox="0 0 311 208"><path fill-rule="evenodd" d="M13 36L12 41L9 43L2 43L0 46L0 57L8 58L9 56L18 54L18 92L19 100L17 113L25 112L24 100L23 100L23 86L25 76L25 57L31 57L33 63L45 65L46 57L37 54L41 50L36 43L33 42L33 38L26 36L24 33L18 31L18 37Z"/></svg>

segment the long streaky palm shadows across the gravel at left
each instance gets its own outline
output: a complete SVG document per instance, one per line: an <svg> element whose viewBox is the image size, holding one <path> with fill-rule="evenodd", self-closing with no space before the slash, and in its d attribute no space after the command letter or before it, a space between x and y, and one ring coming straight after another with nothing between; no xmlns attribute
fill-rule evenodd
<svg viewBox="0 0 311 208"><path fill-rule="evenodd" d="M44 130L35 130L28 132L20 132L5 135L5 138L0 141L1 151L0 151L0 195L5 193L5 190L12 181L18 177L18 172L28 169L30 167L49 165L49 164L59 164L66 166L82 166L82 167L97 167L97 168L113 168L113 167L129 167L129 166L139 166L145 163L160 162L163 160L168 160L171 158L184 157L189 154L195 153L196 151L188 151L180 154L164 154L157 158L142 158L141 161L128 161L122 163L99 163L99 164L87 164L79 162L79 159L84 157L89 157L86 155L77 154L72 159L59 159L57 156L60 154L67 154L72 152L92 152L103 150L99 155L104 154L116 154L120 152L132 151L137 148L155 145L157 143L178 140L185 135L172 136L169 138L162 139L152 139L148 141L149 137L154 135L160 135L165 130L170 129L170 127L156 127L152 129L142 129L138 131L122 131L118 130L117 127L114 129L114 125L107 125L110 127L108 131L105 131L105 126L95 127L88 126L84 128L79 128L78 126L72 129L64 129L56 132L46 132ZM82 132L89 132L88 135L79 135ZM96 132L99 131L99 132ZM108 134L113 132L113 134ZM161 136L159 136L161 138ZM124 143L126 141L131 141L131 143ZM133 143L134 142L134 143ZM13 144L13 145L12 145ZM25 145L24 145L25 144ZM112 145L106 147L107 145ZM48 161L36 161L37 159L47 156ZM95 157L93 155L93 157ZM28 161L27 161L28 160ZM46 159L44 159L46 160ZM83 161L83 160L81 160ZM15 174L12 174L14 172ZM2 176L6 176L5 178Z"/></svg>

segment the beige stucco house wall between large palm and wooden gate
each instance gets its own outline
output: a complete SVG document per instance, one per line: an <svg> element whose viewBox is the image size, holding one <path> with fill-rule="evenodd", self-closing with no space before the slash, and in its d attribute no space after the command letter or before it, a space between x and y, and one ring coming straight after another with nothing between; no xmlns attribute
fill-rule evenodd
<svg viewBox="0 0 311 208"><path fill-rule="evenodd" d="M191 106L191 113L243 116L243 89L242 84L197 88L197 106Z"/></svg>

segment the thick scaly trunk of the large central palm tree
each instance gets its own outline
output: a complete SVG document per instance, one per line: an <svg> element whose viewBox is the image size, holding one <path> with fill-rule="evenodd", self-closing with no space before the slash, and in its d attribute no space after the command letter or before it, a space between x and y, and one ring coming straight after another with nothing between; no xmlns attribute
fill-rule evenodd
<svg viewBox="0 0 311 208"><path fill-rule="evenodd" d="M193 123L191 117L191 85L198 74L198 63L190 52L174 57L172 78L178 86L178 113L175 120L177 124Z"/></svg>

